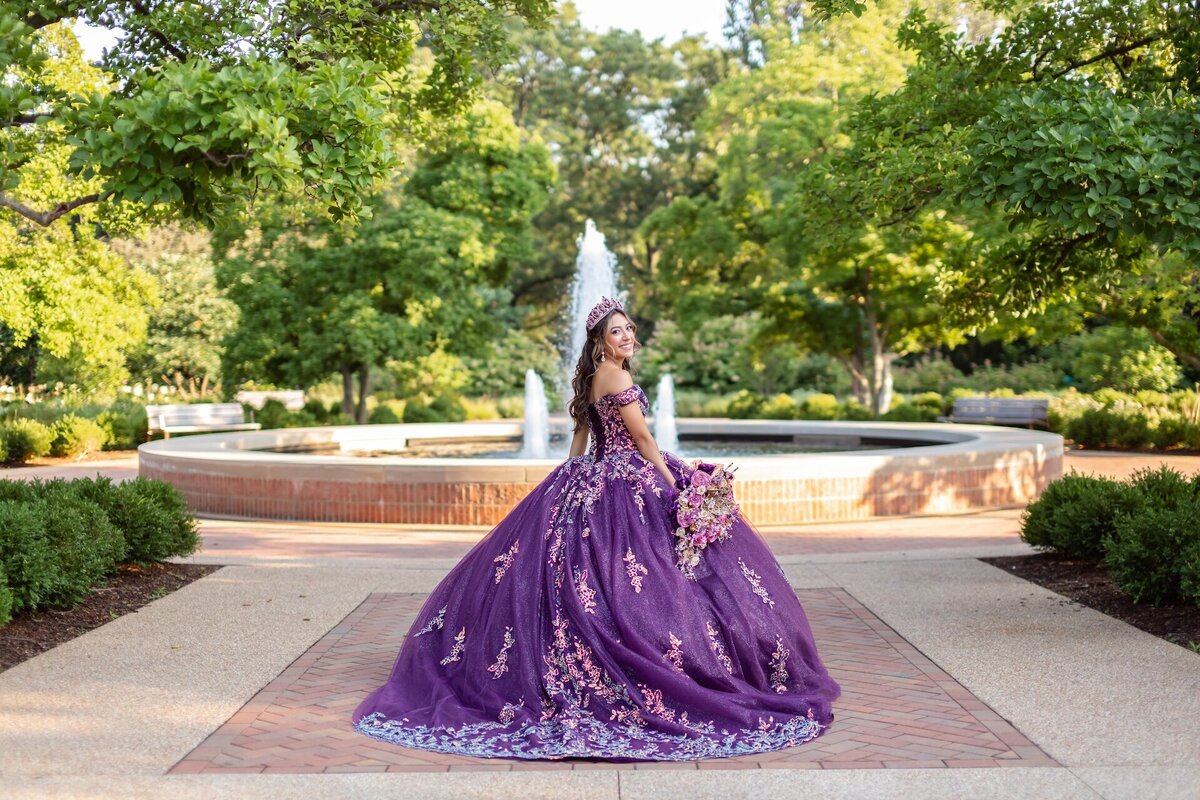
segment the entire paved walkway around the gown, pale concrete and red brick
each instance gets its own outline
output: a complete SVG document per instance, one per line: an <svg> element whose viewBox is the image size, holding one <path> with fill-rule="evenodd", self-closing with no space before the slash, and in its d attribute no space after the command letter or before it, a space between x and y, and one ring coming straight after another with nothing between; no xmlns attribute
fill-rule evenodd
<svg viewBox="0 0 1200 800"><path fill-rule="evenodd" d="M1067 468L1124 476L1162 461L1076 451ZM1196 457L1169 463L1200 471ZM4 476L97 471L125 479L136 463ZM1028 552L1019 519L1007 510L762 530L844 696L815 742L695 764L469 759L355 734L350 710L484 531L204 521L193 560L228 566L0 674L0 789L1196 800L1200 657L979 561Z"/></svg>

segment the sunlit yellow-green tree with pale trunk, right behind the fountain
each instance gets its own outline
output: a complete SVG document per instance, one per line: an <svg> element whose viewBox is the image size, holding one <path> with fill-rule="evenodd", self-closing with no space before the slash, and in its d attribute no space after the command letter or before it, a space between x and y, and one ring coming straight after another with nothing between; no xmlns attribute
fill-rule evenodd
<svg viewBox="0 0 1200 800"><path fill-rule="evenodd" d="M682 325L760 308L766 342L839 359L856 396L886 411L900 354L961 337L938 324L928 295L946 246L967 234L943 216L928 217L919 231L842 216L822 219L824 235L814 235L802 201L814 167L850 146L853 109L900 86L912 62L893 41L906 5L806 18L798 30L785 11L768 14L776 28L787 23L772 34L769 58L719 84L702 118L718 154L712 191L677 200L643 230L661 247L662 279L674 288L667 313Z"/></svg>

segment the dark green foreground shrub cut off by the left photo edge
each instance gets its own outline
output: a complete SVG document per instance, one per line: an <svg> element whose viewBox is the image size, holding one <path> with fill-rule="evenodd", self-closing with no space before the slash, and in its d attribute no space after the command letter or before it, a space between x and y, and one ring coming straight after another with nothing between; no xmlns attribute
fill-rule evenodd
<svg viewBox="0 0 1200 800"><path fill-rule="evenodd" d="M58 555L41 512L36 503L0 501L0 566L14 612L44 604L59 583Z"/></svg>

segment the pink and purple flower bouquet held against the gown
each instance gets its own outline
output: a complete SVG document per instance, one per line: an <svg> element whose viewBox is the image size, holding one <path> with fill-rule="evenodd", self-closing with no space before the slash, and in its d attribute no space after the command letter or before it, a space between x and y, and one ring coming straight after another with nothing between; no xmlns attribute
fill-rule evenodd
<svg viewBox="0 0 1200 800"><path fill-rule="evenodd" d="M713 542L724 542L733 530L738 504L733 499L733 467L696 462L674 506L677 566L696 577L700 555Z"/></svg>

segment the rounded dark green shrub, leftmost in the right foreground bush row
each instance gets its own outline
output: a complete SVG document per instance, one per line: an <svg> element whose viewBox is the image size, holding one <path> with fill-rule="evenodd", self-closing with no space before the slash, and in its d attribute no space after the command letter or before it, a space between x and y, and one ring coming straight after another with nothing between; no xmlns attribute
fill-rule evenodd
<svg viewBox="0 0 1200 800"><path fill-rule="evenodd" d="M1021 539L1072 558L1099 559L1117 519L1138 504L1136 492L1124 483L1072 473L1025 509Z"/></svg>

